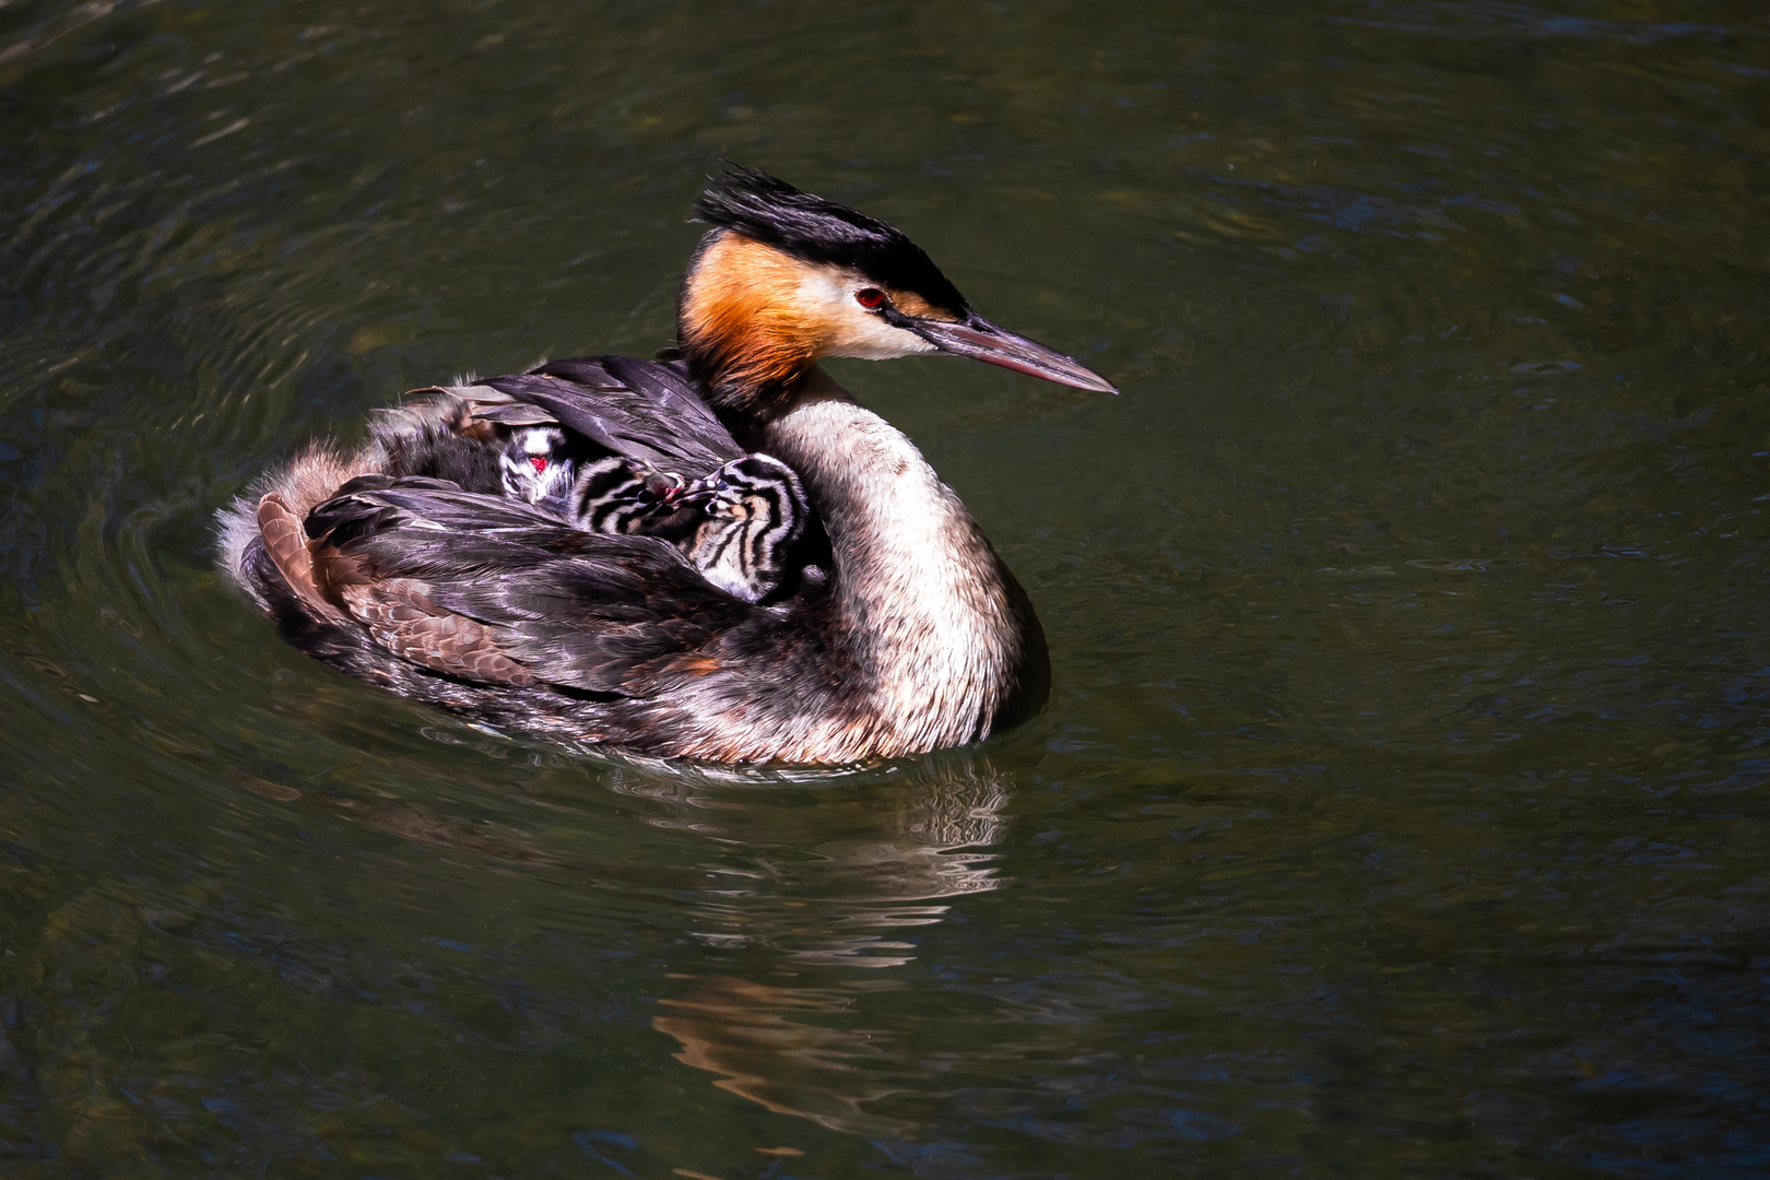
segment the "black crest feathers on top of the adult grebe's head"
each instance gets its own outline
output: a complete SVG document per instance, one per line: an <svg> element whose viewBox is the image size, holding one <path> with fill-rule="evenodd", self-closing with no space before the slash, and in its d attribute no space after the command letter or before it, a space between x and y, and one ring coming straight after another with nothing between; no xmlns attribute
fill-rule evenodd
<svg viewBox="0 0 1770 1180"><path fill-rule="evenodd" d="M805 262L853 267L959 318L970 311L959 288L903 230L758 168L727 165L694 203L694 219L754 237Z"/></svg>

